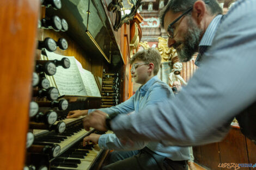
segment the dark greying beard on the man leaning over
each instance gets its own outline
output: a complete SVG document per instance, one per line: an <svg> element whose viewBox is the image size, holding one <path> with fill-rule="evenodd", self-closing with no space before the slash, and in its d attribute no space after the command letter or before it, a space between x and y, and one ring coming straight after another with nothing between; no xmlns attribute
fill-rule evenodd
<svg viewBox="0 0 256 170"><path fill-rule="evenodd" d="M176 49L181 62L190 61L193 54L198 51L200 36L203 32L190 17L188 17L187 25L188 29L184 36L184 42L178 41L173 45L174 48L183 45L180 49Z"/></svg>

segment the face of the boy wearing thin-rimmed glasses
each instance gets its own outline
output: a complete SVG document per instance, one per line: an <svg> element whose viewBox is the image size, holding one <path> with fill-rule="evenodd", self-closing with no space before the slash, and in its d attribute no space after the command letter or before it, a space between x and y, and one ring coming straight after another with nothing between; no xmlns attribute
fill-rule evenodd
<svg viewBox="0 0 256 170"><path fill-rule="evenodd" d="M145 84L149 78L149 65L148 62L135 60L132 64L131 74L135 83Z"/></svg>

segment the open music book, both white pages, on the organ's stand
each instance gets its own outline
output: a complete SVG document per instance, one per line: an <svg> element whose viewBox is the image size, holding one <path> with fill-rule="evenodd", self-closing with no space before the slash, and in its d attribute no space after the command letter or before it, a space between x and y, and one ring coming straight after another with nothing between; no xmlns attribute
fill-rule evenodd
<svg viewBox="0 0 256 170"><path fill-rule="evenodd" d="M95 79L93 79L93 74L84 70L81 63L74 56L64 56L47 51L46 54L47 56L43 56L44 60L61 60L64 57L70 60L69 68L65 69L62 66L58 66L56 74L47 76L51 84L59 90L60 96L101 97L99 88L95 83Z"/></svg>

